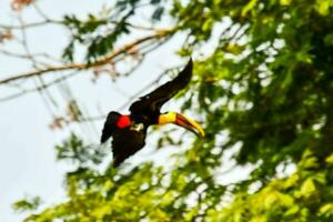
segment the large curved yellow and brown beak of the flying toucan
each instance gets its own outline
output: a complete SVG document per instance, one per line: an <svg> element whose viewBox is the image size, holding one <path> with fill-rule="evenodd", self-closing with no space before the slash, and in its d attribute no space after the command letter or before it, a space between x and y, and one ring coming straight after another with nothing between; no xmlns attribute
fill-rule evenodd
<svg viewBox="0 0 333 222"><path fill-rule="evenodd" d="M194 120L191 120L190 118L176 113L176 112L167 112L163 114L160 114L159 117L159 124L167 124L167 123L174 123L182 128L185 128L186 130L190 130L191 132L194 132L195 134L200 137L204 137L204 131L198 124Z"/></svg>

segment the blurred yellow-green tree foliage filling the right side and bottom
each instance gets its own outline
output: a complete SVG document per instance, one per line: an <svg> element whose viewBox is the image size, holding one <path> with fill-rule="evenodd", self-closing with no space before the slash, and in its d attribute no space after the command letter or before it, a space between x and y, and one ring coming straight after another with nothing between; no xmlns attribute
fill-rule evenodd
<svg viewBox="0 0 333 222"><path fill-rule="evenodd" d="M77 41L87 44L88 60L112 50L143 3L119 1L111 16L117 22L102 36L97 30L111 26L109 20L68 16L72 41L64 57L72 58ZM85 164L102 161L98 150L83 149L71 135L57 147L59 159L79 163L65 180L68 199L31 212L26 221L333 221L332 1L150 4L154 22L168 14L178 32L188 34L180 56L218 41L195 62L183 95L182 109L203 119L205 139L170 158L175 160L171 168L144 163L101 172ZM223 24L216 39L213 32ZM230 161L252 167L246 180L219 180L219 169L230 164L222 161L226 150L233 152ZM292 165L292 173L279 171Z"/></svg>

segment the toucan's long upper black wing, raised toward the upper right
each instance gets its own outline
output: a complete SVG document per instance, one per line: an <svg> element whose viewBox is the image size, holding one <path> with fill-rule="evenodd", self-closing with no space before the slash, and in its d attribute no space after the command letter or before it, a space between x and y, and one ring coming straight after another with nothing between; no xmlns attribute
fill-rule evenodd
<svg viewBox="0 0 333 222"><path fill-rule="evenodd" d="M149 94L141 97L131 107L130 111L134 115L147 112L160 112L161 107L174 97L180 90L184 89L192 77L193 62L190 59L186 67L178 74L178 77L165 84L159 87Z"/></svg>

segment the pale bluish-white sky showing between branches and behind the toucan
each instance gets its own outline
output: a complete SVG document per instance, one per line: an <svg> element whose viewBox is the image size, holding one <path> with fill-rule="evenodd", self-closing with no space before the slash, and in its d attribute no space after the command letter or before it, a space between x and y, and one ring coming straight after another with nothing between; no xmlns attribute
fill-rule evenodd
<svg viewBox="0 0 333 222"><path fill-rule="evenodd" d="M40 0L39 7L53 19L60 19L63 14L75 14L80 18L88 13L98 12L105 1L93 0ZM0 1L0 24L11 24L16 20L16 13L10 8L9 1ZM32 8L23 11L23 20L39 21L40 17ZM31 49L39 52L52 52L61 54L61 49L67 44L69 33L62 28L36 28L28 33ZM175 56L182 37L176 37L159 50L152 52L128 78L120 78L115 82L109 77L101 77L92 83L91 72L81 74L69 80L71 94L79 98L80 104L92 115L107 113L118 109L123 101L155 79L165 68L184 64ZM16 44L8 43L8 49L21 51ZM0 44L1 49L1 44ZM209 48L208 48L209 50ZM195 59L195 58L194 58ZM31 70L31 64L17 59L0 54L0 79L12 73ZM163 80L162 80L163 81ZM148 89L149 91L150 89ZM12 93L14 89L0 85L0 95ZM121 91L121 92L119 92ZM63 101L57 88L51 88L50 93L58 100ZM175 108L176 104L167 104L167 109ZM65 103L58 102L58 108L52 112L64 113ZM54 144L61 142L70 130L82 133L84 140L98 143L100 129L103 121L93 125L73 125L65 130L50 130L52 122L50 109L43 102L39 93L29 93L18 99L0 103L0 221L20 221L24 214L14 213L11 204L24 196L39 195L47 205L56 204L64 199L63 174L71 168L70 163L60 163L56 160ZM152 147L153 139L148 141ZM139 154L145 158L149 154L143 151ZM110 154L111 155L111 154ZM162 157L162 155L161 155ZM135 159L133 160L135 162ZM138 161L137 161L138 162ZM240 170L241 171L241 170ZM241 172L239 172L241 174ZM244 172L243 172L244 174ZM234 176L231 176L234 179ZM231 180L224 178L224 180ZM239 176L240 178L240 176Z"/></svg>

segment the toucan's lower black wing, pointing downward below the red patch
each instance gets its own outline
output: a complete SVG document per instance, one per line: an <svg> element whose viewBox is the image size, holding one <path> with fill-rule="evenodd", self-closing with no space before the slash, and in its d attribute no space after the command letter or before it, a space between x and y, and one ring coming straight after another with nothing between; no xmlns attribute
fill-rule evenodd
<svg viewBox="0 0 333 222"><path fill-rule="evenodd" d="M125 159L141 150L145 142L145 131L124 129L112 135L113 167L118 167Z"/></svg>

